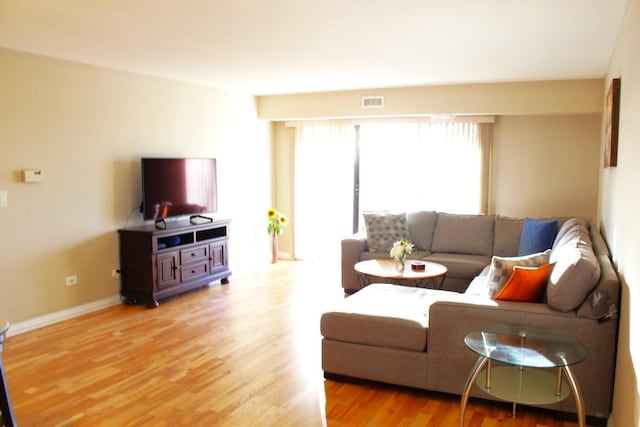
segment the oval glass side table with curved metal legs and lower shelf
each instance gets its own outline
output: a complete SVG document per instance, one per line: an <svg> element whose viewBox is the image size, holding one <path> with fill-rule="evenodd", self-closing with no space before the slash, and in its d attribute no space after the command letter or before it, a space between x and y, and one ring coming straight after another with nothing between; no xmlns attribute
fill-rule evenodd
<svg viewBox="0 0 640 427"><path fill-rule="evenodd" d="M473 384L516 404L546 404L569 396L576 401L578 425L584 427L584 402L570 366L587 358L585 347L571 338L522 326L499 326L471 332L464 343L478 354L460 399L460 427ZM501 366L492 367L492 362ZM483 368L486 368L483 370ZM535 368L535 369L531 369ZM555 368L551 374L541 368Z"/></svg>

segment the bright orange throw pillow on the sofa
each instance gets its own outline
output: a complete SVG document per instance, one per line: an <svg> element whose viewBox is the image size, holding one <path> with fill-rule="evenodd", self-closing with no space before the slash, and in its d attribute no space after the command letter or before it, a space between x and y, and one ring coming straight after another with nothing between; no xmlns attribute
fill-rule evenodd
<svg viewBox="0 0 640 427"><path fill-rule="evenodd" d="M540 302L554 264L539 267L513 267L513 273L493 297L503 301Z"/></svg>

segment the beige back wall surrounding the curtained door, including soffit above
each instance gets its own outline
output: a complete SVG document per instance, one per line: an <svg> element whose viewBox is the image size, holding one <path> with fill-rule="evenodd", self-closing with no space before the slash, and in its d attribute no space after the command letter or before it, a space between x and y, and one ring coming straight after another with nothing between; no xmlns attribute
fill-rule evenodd
<svg viewBox="0 0 640 427"><path fill-rule="evenodd" d="M357 120L363 115L360 97L372 93L385 96L384 112L392 108L393 117L496 115L490 213L596 218L601 79L262 96L258 112L274 120ZM436 106L440 101L442 108ZM293 135L282 122L275 129L277 199L292 209ZM290 244L285 239L281 250L290 251Z"/></svg>

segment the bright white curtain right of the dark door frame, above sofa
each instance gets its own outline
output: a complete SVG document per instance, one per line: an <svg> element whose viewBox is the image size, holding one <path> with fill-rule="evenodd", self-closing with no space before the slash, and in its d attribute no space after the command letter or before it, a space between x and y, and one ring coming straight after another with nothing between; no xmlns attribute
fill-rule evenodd
<svg viewBox="0 0 640 427"><path fill-rule="evenodd" d="M364 124L360 210L483 211L476 123Z"/></svg>

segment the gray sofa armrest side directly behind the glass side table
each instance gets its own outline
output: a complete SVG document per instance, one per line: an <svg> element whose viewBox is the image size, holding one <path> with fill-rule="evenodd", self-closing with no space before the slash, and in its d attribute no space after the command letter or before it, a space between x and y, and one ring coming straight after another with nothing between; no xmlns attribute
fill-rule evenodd
<svg viewBox="0 0 640 427"><path fill-rule="evenodd" d="M562 313L546 304L512 301L438 301L429 310L428 375L438 390L459 394L478 356L464 344L464 337L483 327L522 325L569 336L582 343L589 356L574 372L585 397L589 413L608 416L611 410L616 355L617 322L599 323ZM443 370L442 366L451 369ZM452 375L451 372L459 372ZM558 405L573 412L573 403Z"/></svg>

